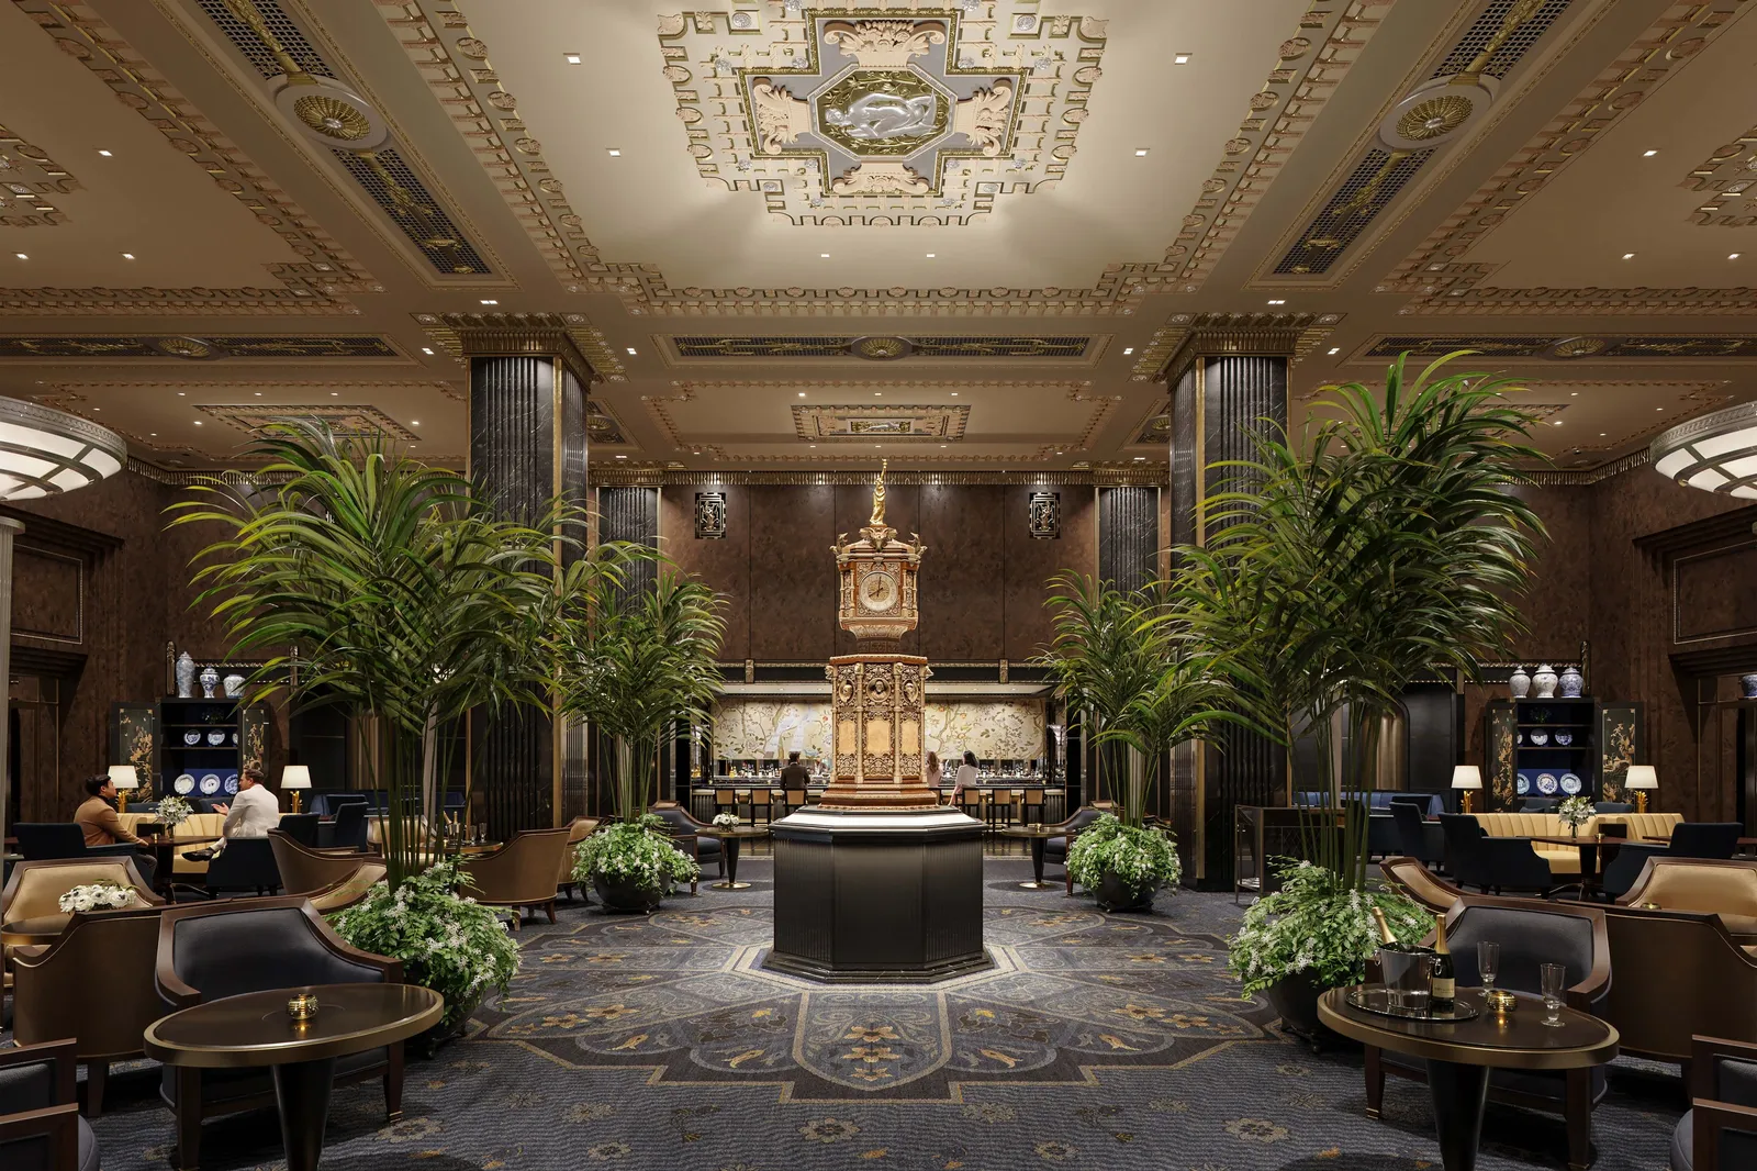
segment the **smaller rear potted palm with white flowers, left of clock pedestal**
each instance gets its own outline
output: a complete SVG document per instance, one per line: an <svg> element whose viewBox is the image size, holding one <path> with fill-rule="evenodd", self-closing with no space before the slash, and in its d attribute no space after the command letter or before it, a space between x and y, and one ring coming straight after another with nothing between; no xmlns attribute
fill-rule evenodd
<svg viewBox="0 0 1757 1171"><path fill-rule="evenodd" d="M610 911L654 911L673 883L701 874L648 809L662 738L701 719L719 691L722 605L661 559L652 589L608 591L560 626L560 707L608 742L617 818L580 842L573 876Z"/></svg>

